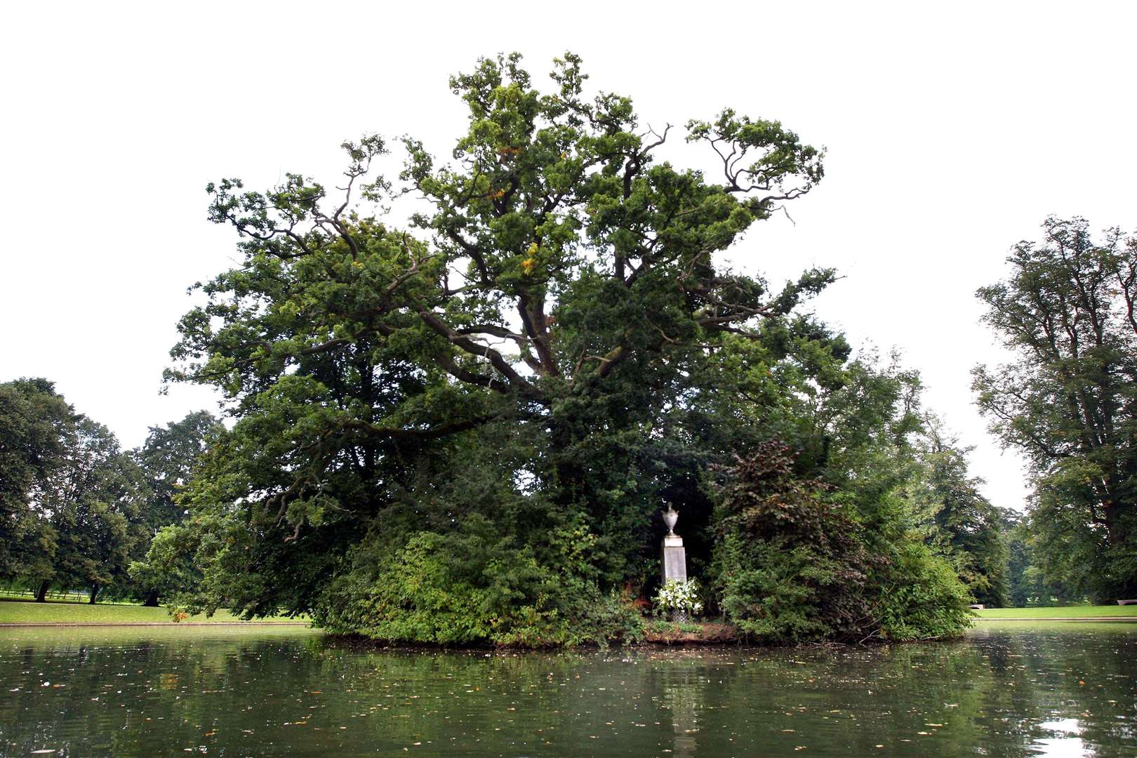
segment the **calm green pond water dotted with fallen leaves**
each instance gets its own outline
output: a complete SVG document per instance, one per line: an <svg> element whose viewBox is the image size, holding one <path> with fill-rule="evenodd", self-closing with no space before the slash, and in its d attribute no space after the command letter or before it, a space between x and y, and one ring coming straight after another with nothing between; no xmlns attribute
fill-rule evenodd
<svg viewBox="0 0 1137 758"><path fill-rule="evenodd" d="M2 756L1137 756L1135 624L555 655L5 628L0 688Z"/></svg>

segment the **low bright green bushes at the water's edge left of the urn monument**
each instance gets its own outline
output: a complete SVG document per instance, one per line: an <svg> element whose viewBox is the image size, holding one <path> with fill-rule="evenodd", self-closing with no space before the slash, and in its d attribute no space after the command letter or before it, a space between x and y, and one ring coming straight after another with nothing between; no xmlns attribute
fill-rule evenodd
<svg viewBox="0 0 1137 758"><path fill-rule="evenodd" d="M554 535L567 547L565 535ZM391 550L371 535L352 551L314 618L333 633L391 642L548 647L633 639L639 614L572 566L539 560L529 545L471 517L446 534L417 532Z"/></svg>

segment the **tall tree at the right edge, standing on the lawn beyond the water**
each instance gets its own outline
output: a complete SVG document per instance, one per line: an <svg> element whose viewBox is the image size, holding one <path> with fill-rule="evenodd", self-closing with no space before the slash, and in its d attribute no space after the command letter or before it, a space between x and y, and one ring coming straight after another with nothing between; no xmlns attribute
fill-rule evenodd
<svg viewBox="0 0 1137 758"><path fill-rule="evenodd" d="M973 372L980 410L1031 463L1047 578L1098 598L1137 593L1137 238L1049 218L1011 275L979 290L1015 359Z"/></svg>

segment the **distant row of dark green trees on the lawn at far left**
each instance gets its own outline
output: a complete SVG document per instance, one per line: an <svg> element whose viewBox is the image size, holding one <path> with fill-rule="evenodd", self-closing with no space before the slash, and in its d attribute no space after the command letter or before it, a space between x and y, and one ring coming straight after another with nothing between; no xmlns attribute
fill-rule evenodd
<svg viewBox="0 0 1137 758"><path fill-rule="evenodd" d="M0 384L0 581L30 589L86 590L158 605L161 582L132 576L175 503L207 439L206 411L151 427L122 450L115 435L74 408L44 378Z"/></svg>

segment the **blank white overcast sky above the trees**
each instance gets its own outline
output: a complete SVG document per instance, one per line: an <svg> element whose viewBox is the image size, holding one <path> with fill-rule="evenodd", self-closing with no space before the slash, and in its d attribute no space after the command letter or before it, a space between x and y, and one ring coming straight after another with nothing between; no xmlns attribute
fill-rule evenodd
<svg viewBox="0 0 1137 758"><path fill-rule="evenodd" d="M1020 461L971 405L969 369L999 359L973 292L1048 214L1137 227L1135 22L1129 2L7 3L0 381L53 380L125 447L214 409L158 394L186 286L234 260L205 184L332 184L366 132L445 156L447 75L509 50L543 75L572 50L645 122L731 106L828 147L796 224L731 259L775 282L840 269L816 313L902 350L988 497L1019 507Z"/></svg>

